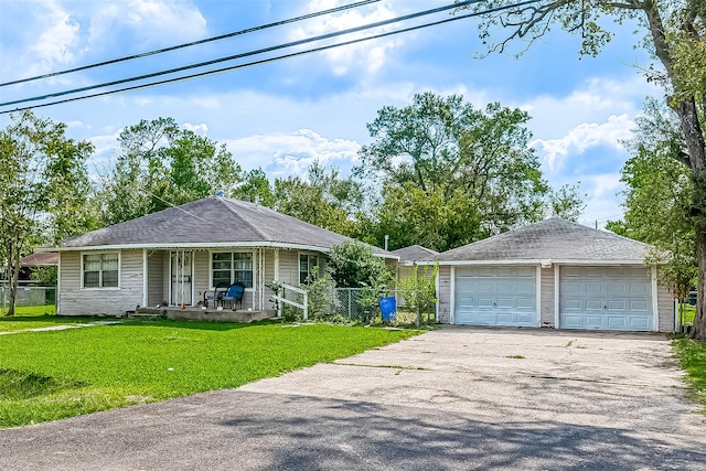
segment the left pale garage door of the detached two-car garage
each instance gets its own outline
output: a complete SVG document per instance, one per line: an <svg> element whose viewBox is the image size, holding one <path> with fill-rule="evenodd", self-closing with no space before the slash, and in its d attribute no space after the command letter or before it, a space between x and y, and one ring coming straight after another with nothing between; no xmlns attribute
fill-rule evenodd
<svg viewBox="0 0 706 471"><path fill-rule="evenodd" d="M454 323L539 327L535 267L457 268Z"/></svg>

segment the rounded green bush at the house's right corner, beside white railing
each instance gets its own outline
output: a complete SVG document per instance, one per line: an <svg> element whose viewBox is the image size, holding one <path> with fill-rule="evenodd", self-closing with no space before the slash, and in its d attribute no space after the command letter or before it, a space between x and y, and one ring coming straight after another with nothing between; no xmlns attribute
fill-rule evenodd
<svg viewBox="0 0 706 471"><path fill-rule="evenodd" d="M373 254L371 246L360 240L333 246L329 253L328 271L338 288L378 289L391 279L385 261Z"/></svg>

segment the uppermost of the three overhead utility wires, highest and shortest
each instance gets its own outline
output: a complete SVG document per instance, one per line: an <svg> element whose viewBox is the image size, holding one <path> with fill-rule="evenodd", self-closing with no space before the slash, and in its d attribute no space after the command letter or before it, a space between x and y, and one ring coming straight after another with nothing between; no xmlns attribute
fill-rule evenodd
<svg viewBox="0 0 706 471"><path fill-rule="evenodd" d="M378 2L378 1L381 1L381 0L363 0L363 1L355 2L355 3L351 3L351 4L345 4L345 6L341 6L341 7L331 8L329 10L317 11L317 12L313 12L313 13L302 14L300 17L295 17L295 18L289 18L289 19L286 19L286 20L275 21L272 23L261 24L259 26L246 28L244 30L233 31L231 33L220 34L217 36L206 38L206 39L199 40L199 41L192 41L190 43L183 43L183 44L178 44L178 45L173 45L173 46L169 46L169 47L162 47L162 49L158 49L158 50L153 50L153 51L143 52L143 53L140 53L140 54L133 54L133 55L127 55L127 56L124 56L124 57L111 58L109 61L98 62L98 63L88 64L88 65L82 65L81 67L68 68L68 69L65 69L65 71L58 71L58 72L52 72L52 73L44 74L44 75L35 75L33 77L19 78L17 81L4 82L4 83L0 83L0 87L4 87L4 86L8 86L8 85L23 84L23 83L26 83L26 82L39 81L39 79L42 79L42 78L56 77L56 76L60 76L60 75L66 75L66 74L71 74L71 73L74 73L74 72L87 71L89 68L103 67L105 65L111 65L111 64L118 64L120 62L132 61L135 58L149 57L151 55L163 54L165 52L176 51L176 50L184 49L184 47L191 47L191 46L205 44L205 43L210 43L210 42L214 42L214 41L225 40L225 39L228 39L228 38L235 38L235 36L239 36L239 35L247 34L247 33L254 33L254 32L257 32L257 31L263 31L263 30L267 30L267 29L270 29L270 28L275 28L275 26L281 26L281 25L285 25L285 24L295 23L295 22L298 22L298 21L310 20L312 18L322 17L324 14L338 13L338 12L350 10L350 9L353 9L353 8L364 7L366 4L375 3L375 2Z"/></svg>

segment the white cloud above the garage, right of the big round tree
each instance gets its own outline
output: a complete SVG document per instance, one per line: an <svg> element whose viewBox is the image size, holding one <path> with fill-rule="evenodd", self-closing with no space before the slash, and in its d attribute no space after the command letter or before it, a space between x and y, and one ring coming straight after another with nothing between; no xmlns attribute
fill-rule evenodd
<svg viewBox="0 0 706 471"><path fill-rule="evenodd" d="M607 122L584 122L559 139L536 139L535 147L549 171L557 171L569 154L580 154L598 146L622 150L621 141L632 135L634 122L628 115L610 116Z"/></svg>

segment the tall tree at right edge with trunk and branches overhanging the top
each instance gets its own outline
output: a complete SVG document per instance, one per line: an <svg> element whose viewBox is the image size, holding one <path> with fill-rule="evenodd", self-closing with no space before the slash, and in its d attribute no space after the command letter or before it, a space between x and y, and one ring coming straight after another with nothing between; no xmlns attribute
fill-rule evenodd
<svg viewBox="0 0 706 471"><path fill-rule="evenodd" d="M477 11L511 6L511 0L482 0ZM698 287L692 338L706 341L706 2L704 0L541 0L486 13L480 34L490 51L504 51L514 40L534 41L553 26L580 35L581 52L597 55L614 33L603 18L638 20L645 45L661 64L648 71L665 88L676 113L691 179L689 216L696 239ZM501 32L499 40L493 34Z"/></svg>

